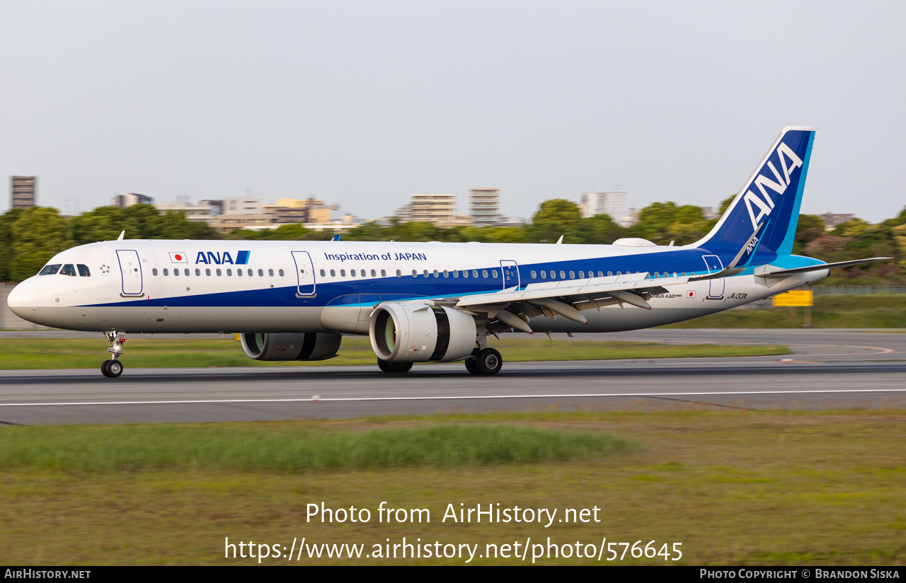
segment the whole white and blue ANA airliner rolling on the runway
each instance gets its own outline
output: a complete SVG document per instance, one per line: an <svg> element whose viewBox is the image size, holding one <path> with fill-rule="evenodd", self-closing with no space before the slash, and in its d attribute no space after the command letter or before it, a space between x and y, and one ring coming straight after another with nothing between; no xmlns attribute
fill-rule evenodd
<svg viewBox="0 0 906 583"><path fill-rule="evenodd" d="M15 287L25 320L103 332L240 333L259 360L336 356L368 335L384 372L462 360L496 374L487 337L611 332L698 318L786 292L834 267L792 254L814 128L786 128L700 241L610 245L145 241L80 245Z"/></svg>

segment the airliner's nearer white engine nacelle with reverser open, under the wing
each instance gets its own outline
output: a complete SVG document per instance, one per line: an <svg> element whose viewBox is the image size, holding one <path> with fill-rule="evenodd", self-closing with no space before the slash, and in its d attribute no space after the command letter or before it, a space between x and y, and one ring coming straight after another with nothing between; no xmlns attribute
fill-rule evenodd
<svg viewBox="0 0 906 583"><path fill-rule="evenodd" d="M384 303L371 312L371 349L381 360L460 360L475 349L475 319L452 308Z"/></svg>

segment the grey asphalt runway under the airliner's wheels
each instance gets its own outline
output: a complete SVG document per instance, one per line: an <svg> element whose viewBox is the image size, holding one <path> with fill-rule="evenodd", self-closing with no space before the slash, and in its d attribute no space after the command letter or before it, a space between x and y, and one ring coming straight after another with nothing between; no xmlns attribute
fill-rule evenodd
<svg viewBox="0 0 906 583"><path fill-rule="evenodd" d="M0 424L197 423L500 410L906 408L906 334L639 330L576 339L776 343L794 353L781 358L505 363L496 377L469 375L461 363L417 365L408 374L387 375L371 366L130 369L127 359L126 372L117 379L103 378L93 368L5 371ZM99 339L99 348L101 344Z"/></svg>

